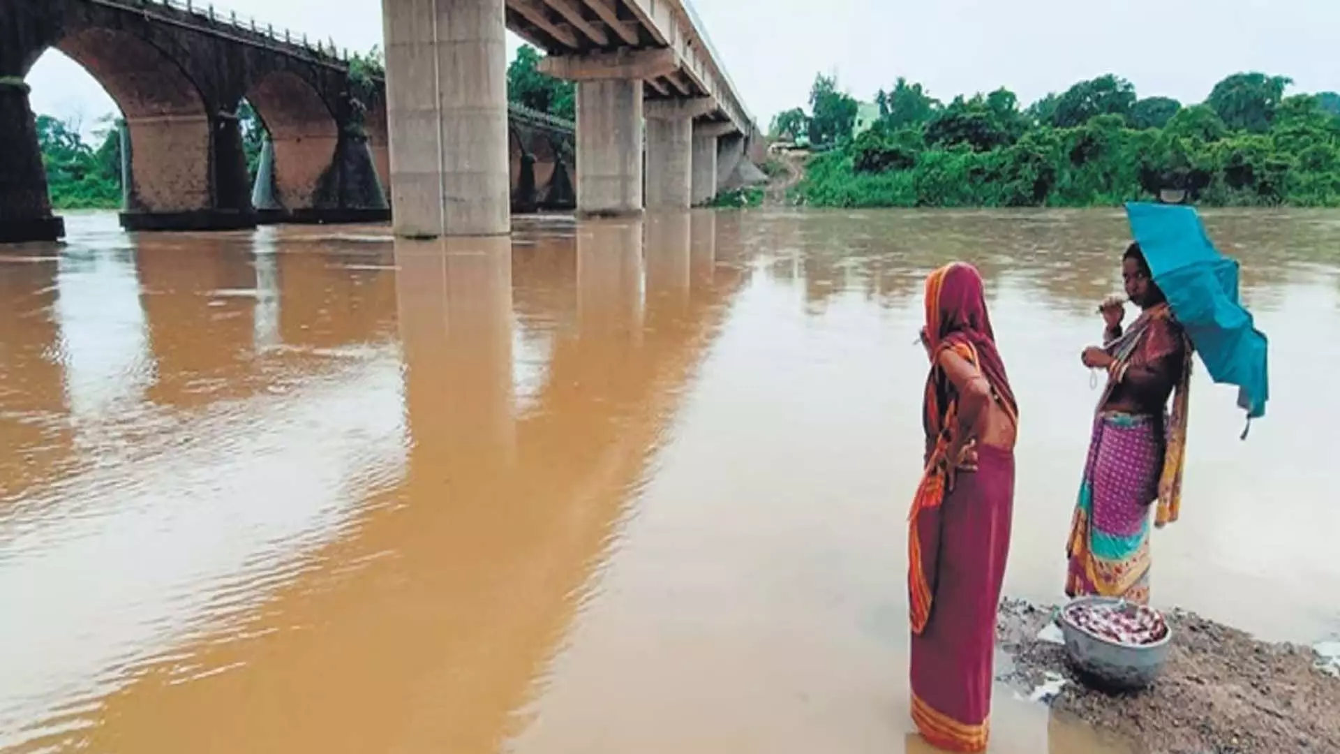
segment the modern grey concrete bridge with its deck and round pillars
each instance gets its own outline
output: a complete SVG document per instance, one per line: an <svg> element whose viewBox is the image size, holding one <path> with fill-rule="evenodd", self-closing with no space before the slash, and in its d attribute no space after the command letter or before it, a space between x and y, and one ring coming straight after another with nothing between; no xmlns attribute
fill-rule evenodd
<svg viewBox="0 0 1340 754"><path fill-rule="evenodd" d="M750 145L761 149L687 0L382 0L382 9L397 235L509 231L508 28L549 54L544 72L576 82L579 215L701 204Z"/></svg>

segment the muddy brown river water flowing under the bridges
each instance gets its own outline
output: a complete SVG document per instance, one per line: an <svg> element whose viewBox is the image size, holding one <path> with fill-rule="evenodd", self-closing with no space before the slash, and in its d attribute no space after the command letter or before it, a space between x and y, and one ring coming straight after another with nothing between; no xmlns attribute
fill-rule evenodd
<svg viewBox="0 0 1340 754"><path fill-rule="evenodd" d="M1340 213L1217 212L1270 335L1198 373L1154 594L1340 632ZM1059 597L1120 212L519 219L0 252L0 750L925 751L922 278L988 278L1012 596ZM1008 661L1006 657L1001 659ZM993 751L1120 747L998 688Z"/></svg>

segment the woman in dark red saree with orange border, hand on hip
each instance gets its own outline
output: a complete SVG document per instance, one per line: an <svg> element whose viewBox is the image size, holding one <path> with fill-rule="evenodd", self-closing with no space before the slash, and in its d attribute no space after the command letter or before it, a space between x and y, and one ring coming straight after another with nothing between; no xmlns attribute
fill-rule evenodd
<svg viewBox="0 0 1340 754"><path fill-rule="evenodd" d="M1018 407L982 278L926 279L926 470L909 517L913 720L931 745L986 749L996 609L1009 554Z"/></svg>

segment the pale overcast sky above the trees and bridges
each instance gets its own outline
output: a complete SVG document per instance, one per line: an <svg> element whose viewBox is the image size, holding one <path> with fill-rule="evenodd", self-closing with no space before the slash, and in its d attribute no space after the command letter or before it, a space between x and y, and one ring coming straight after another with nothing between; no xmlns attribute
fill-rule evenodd
<svg viewBox="0 0 1340 754"><path fill-rule="evenodd" d="M204 0L197 0L204 1ZM225 3L217 4L220 8ZM1006 86L1032 102L1115 72L1142 97L1205 99L1226 74L1260 70L1294 91L1340 90L1340 0L694 0L758 123L804 105L819 71L860 99L899 76L933 95ZM228 0L240 15L335 39L382 42L377 0ZM511 35L509 35L511 36ZM511 38L509 54L519 40ZM47 52L32 107L87 123L114 110L75 63Z"/></svg>

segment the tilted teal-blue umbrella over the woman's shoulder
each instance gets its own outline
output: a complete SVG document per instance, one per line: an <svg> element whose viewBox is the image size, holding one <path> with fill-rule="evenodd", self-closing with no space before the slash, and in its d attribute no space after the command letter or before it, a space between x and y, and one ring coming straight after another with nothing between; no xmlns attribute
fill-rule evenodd
<svg viewBox="0 0 1340 754"><path fill-rule="evenodd" d="M1126 215L1154 282L1210 377L1238 386L1238 405L1248 420L1265 416L1270 397L1266 338L1238 301L1237 260L1214 248L1191 207L1130 203Z"/></svg>

